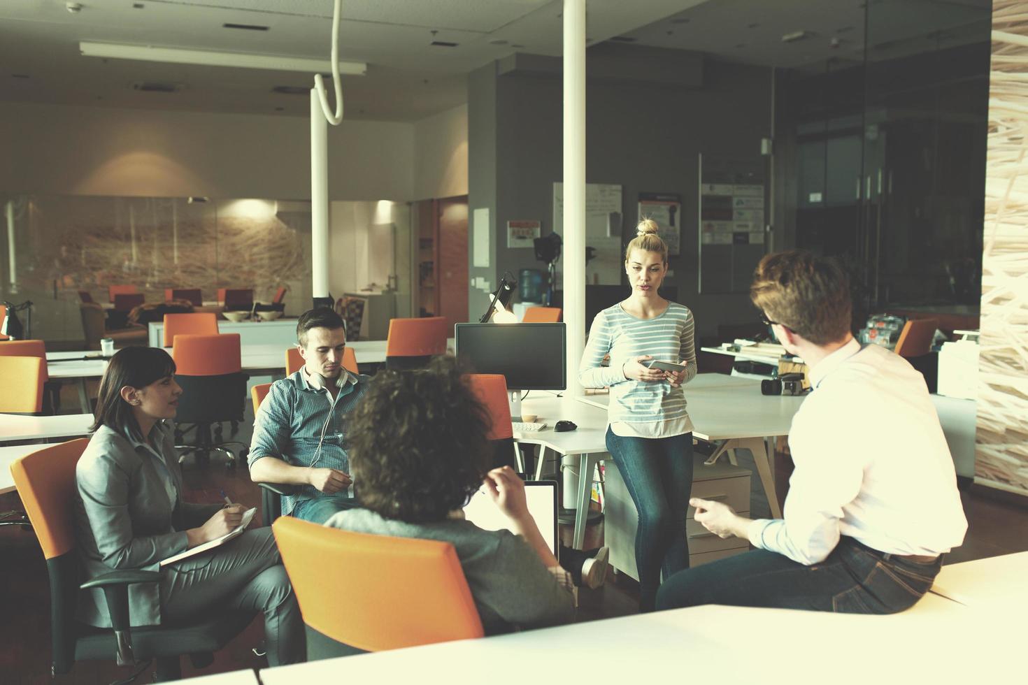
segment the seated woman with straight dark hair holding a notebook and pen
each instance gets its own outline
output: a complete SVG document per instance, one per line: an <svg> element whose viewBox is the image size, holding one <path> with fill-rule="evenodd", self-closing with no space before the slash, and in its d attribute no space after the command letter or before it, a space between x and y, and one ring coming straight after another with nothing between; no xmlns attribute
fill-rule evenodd
<svg viewBox="0 0 1028 685"><path fill-rule="evenodd" d="M240 525L238 504L182 500L175 418L182 388L160 348L119 350L100 382L95 431L75 469L75 532L87 577L115 569L160 571L128 587L131 624L154 625L212 610L264 612L268 662L302 661L303 619L270 528L160 567L160 561ZM80 620L110 627L103 592L82 594Z"/></svg>

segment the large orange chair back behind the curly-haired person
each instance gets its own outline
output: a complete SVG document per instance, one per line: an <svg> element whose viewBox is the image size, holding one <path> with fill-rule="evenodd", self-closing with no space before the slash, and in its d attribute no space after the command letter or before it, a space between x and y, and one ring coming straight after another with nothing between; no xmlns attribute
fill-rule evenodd
<svg viewBox="0 0 1028 685"><path fill-rule="evenodd" d="M449 542L352 533L292 517L271 530L307 626L308 660L482 637Z"/></svg>

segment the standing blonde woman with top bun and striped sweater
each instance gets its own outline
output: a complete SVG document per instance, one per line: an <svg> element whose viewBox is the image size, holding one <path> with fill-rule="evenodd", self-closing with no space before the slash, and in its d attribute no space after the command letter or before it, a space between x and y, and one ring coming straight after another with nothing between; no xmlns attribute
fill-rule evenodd
<svg viewBox="0 0 1028 685"><path fill-rule="evenodd" d="M598 314L579 369L586 387L611 389L607 449L638 510L639 609L653 611L665 578L689 568L686 510L693 482L692 421L682 384L696 376L693 314L660 296L667 244L645 219L625 251L628 299ZM601 363L611 355L611 366ZM685 370L648 368L651 360Z"/></svg>

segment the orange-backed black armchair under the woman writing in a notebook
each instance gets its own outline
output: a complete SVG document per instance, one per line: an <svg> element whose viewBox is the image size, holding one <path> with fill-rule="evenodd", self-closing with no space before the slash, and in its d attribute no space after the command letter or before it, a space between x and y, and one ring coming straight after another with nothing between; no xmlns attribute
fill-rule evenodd
<svg viewBox="0 0 1028 685"><path fill-rule="evenodd" d="M118 665L138 665L132 682L156 660L158 681L182 677L180 658L189 654L195 668L210 665L213 652L242 633L256 612L218 609L189 622L132 627L128 585L157 582L153 571L113 571L79 584L81 564L75 551L72 502L75 464L88 440L44 447L11 465L14 485L46 558L50 580L50 641L53 676L71 671L75 661L114 658ZM113 629L99 629L75 619L79 588L102 587Z"/></svg>

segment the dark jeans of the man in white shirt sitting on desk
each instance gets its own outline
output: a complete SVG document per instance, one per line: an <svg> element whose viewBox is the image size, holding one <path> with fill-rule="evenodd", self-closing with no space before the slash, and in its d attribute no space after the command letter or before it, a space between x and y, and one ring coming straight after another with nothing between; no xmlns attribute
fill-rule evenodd
<svg viewBox="0 0 1028 685"><path fill-rule="evenodd" d="M804 566L767 549L721 559L668 579L658 609L727 604L887 614L914 606L942 567L887 555L843 536L828 558Z"/></svg>

